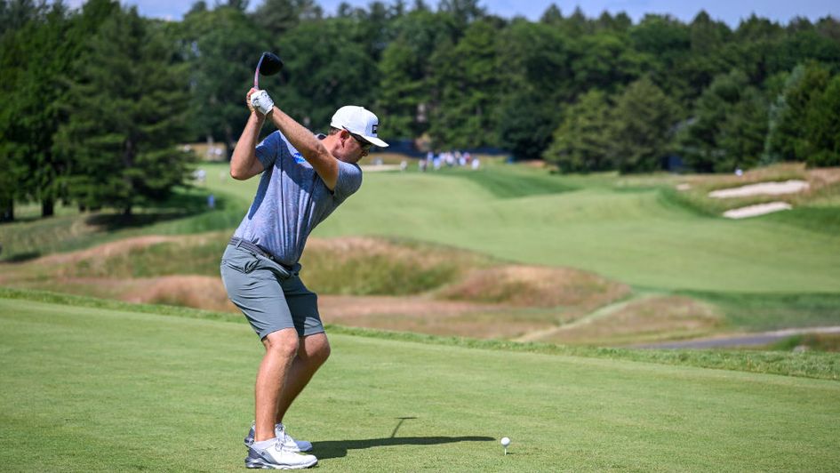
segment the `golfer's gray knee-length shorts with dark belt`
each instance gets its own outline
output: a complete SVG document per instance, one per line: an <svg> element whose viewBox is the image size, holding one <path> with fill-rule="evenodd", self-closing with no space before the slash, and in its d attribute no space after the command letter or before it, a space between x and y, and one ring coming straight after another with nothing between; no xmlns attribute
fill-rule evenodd
<svg viewBox="0 0 840 473"><path fill-rule="evenodd" d="M221 280L228 298L242 310L260 340L294 328L304 337L324 332L318 296L303 285L300 264L285 269L265 256L228 245L221 257Z"/></svg>

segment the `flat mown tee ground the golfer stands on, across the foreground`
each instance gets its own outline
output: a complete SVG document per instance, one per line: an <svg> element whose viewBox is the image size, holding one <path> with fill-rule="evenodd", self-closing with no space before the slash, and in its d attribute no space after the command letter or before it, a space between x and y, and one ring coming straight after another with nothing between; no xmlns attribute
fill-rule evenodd
<svg viewBox="0 0 840 473"><path fill-rule="evenodd" d="M4 469L243 468L261 351L247 325L0 299L0 341ZM837 381L332 345L287 419L328 471L840 469Z"/></svg>

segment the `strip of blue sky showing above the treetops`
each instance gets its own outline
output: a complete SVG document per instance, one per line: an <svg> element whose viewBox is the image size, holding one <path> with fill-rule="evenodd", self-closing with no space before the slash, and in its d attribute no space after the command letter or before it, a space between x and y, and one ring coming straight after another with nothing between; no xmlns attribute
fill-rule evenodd
<svg viewBox="0 0 840 473"><path fill-rule="evenodd" d="M194 0L122 0L124 4L135 4L144 16L180 20ZM215 0L205 0L213 4ZM341 0L316 0L327 13L335 12ZM369 0L346 0L348 4L364 6ZM251 0L251 7L260 4L262 0ZM388 3L388 0L386 0ZM412 1L407 1L412 4ZM436 0L426 0L427 4L436 5ZM604 10L617 13L627 12L634 21L640 20L645 13L668 13L680 20L690 21L704 9L712 18L724 20L732 27L738 26L740 19L747 18L751 13L771 20L787 23L788 20L803 16L810 20L831 15L840 19L840 1L828 0L765 0L742 2L739 0L700 0L693 2L675 2L673 0L591 0L591 1L556 1L564 14L580 8L588 17L596 17ZM71 0L70 4L81 4L81 0ZM479 2L488 11L503 17L522 15L531 20L540 18L542 12L552 4L551 0L482 0Z"/></svg>

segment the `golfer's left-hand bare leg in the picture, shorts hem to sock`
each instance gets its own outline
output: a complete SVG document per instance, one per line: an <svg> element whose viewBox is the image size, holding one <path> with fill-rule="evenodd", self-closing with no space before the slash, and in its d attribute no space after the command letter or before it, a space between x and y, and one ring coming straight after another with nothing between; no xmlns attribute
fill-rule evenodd
<svg viewBox="0 0 840 473"><path fill-rule="evenodd" d="M275 437L277 403L292 360L298 352L298 333L293 328L268 333L262 344L266 347L266 354L262 357L254 387L254 440L257 442Z"/></svg>

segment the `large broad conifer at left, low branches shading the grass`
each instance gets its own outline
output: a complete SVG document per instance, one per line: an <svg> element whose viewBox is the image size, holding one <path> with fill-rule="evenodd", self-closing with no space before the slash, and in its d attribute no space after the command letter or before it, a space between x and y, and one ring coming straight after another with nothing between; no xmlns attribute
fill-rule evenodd
<svg viewBox="0 0 840 473"><path fill-rule="evenodd" d="M163 201L188 172L189 155L175 149L187 130L187 84L162 29L134 9L116 10L86 46L63 104L74 113L59 132L73 163L68 192L85 207L128 214Z"/></svg>

